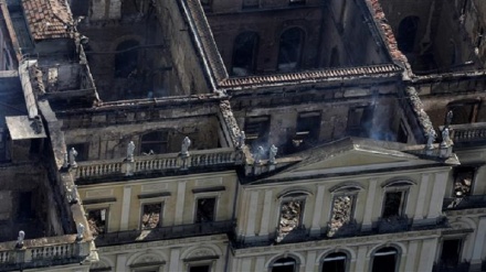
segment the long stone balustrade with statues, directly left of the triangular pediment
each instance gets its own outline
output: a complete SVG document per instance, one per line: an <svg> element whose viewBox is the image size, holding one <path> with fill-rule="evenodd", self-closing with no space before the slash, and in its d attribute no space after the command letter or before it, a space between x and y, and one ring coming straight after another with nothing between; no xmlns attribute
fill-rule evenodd
<svg viewBox="0 0 486 272"><path fill-rule="evenodd" d="M80 162L73 171L76 178L83 179L241 163L243 163L243 153L232 148L225 148L190 151L189 156L182 156L180 153L135 156L134 162L124 159Z"/></svg>

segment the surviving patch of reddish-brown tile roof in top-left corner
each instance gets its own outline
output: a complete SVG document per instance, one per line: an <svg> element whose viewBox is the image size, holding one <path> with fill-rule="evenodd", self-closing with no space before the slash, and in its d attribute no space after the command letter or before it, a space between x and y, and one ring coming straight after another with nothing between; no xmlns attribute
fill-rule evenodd
<svg viewBox="0 0 486 272"><path fill-rule="evenodd" d="M65 0L22 0L34 40L68 37L73 17Z"/></svg>

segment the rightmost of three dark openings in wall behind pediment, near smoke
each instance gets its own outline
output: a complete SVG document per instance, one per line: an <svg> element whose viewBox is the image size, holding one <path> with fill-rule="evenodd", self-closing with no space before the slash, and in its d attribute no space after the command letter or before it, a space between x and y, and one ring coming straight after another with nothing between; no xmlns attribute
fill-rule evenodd
<svg viewBox="0 0 486 272"><path fill-rule="evenodd" d="M368 137L369 130L372 129L373 106L356 107L349 109L348 112L348 132L353 137Z"/></svg>

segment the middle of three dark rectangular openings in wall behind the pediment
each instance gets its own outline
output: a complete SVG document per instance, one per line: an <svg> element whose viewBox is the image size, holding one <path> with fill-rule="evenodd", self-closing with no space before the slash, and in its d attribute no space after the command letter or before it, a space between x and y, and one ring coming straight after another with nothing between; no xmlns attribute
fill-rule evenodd
<svg viewBox="0 0 486 272"><path fill-rule="evenodd" d="M302 112L297 118L297 131L294 145L315 144L319 140L320 111Z"/></svg>

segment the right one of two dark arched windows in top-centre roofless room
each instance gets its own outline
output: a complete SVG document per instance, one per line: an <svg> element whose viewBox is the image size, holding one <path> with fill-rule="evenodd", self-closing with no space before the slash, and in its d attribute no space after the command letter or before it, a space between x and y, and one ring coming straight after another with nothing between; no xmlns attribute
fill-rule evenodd
<svg viewBox="0 0 486 272"><path fill-rule="evenodd" d="M278 70L292 72L298 68L304 45L304 31L299 28L286 30L281 35Z"/></svg>

